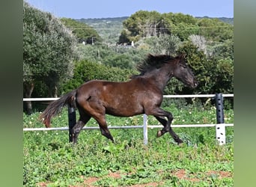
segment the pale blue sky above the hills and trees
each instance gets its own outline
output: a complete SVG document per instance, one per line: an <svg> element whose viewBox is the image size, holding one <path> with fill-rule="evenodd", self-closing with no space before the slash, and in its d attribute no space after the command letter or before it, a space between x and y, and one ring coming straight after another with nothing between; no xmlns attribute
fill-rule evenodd
<svg viewBox="0 0 256 187"><path fill-rule="evenodd" d="M61 18L88 19L131 16L138 10L191 16L234 17L233 0L25 0Z"/></svg>

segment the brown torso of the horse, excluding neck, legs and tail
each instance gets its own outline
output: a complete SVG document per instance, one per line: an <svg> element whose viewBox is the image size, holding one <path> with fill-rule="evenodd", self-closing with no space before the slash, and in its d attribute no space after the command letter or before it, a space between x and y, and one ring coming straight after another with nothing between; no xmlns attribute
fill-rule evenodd
<svg viewBox="0 0 256 187"><path fill-rule="evenodd" d="M77 89L77 102L82 108L102 109L106 114L133 116L144 113L145 103L150 103L147 86L139 79L128 82L93 80Z"/></svg>

